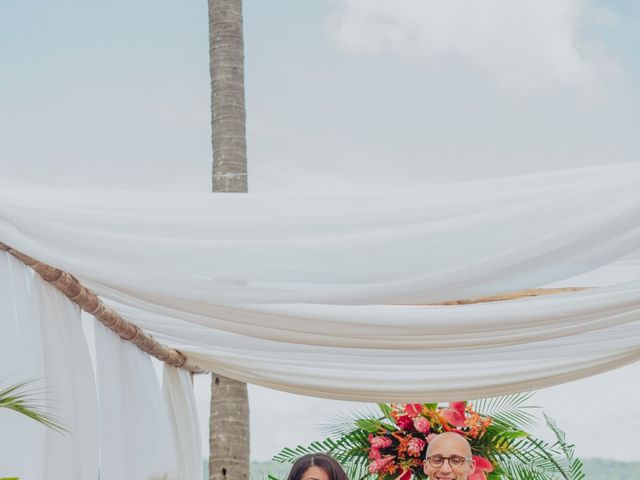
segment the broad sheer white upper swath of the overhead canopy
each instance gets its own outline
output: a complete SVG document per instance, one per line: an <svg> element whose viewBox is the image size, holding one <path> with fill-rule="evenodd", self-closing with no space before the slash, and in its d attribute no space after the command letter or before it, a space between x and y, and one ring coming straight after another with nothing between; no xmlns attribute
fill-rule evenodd
<svg viewBox="0 0 640 480"><path fill-rule="evenodd" d="M0 238L107 297L421 304L541 286L640 249L640 166L379 197L0 193Z"/></svg>

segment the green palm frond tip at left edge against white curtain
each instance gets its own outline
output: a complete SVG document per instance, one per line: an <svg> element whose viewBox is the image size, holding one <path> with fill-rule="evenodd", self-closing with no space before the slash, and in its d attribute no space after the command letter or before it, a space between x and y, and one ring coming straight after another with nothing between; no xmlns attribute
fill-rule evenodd
<svg viewBox="0 0 640 480"><path fill-rule="evenodd" d="M43 395L46 391L29 388L35 380L26 380L0 390L0 408L25 415L59 433L69 433L60 421L47 412Z"/></svg>

